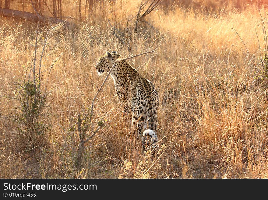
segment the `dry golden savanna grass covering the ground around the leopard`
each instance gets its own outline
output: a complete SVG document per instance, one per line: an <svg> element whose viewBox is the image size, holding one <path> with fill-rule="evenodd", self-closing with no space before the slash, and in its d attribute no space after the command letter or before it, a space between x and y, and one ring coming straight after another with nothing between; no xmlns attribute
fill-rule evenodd
<svg viewBox="0 0 268 200"><path fill-rule="evenodd" d="M1 178L267 178L265 1L164 1L136 26L140 2L91 1L89 10L82 1L81 20L78 1L62 2L62 15L72 19L48 34L40 85L47 97L34 128L26 119L34 96L27 81L35 46L38 74L54 25L40 24L36 37L37 23L0 17ZM10 9L22 10L21 3ZM42 13L50 15L46 7ZM100 129L78 159L78 116L90 111L105 78L97 59L157 45L129 60L160 96L157 152L142 153L109 77L85 138Z"/></svg>

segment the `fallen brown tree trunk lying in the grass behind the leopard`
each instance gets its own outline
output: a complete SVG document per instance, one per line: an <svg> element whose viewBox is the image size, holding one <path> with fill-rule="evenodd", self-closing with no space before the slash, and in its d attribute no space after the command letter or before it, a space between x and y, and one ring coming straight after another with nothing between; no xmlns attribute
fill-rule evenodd
<svg viewBox="0 0 268 200"><path fill-rule="evenodd" d="M37 14L33 14L31 12L23 12L20 10L12 10L12 9L6 9L6 8L1 8L1 7L0 7L0 16L11 17L14 19L23 19L23 20L27 20L33 23L37 23L38 17L39 17ZM40 15L39 22L58 24L58 23L63 23L64 20Z"/></svg>

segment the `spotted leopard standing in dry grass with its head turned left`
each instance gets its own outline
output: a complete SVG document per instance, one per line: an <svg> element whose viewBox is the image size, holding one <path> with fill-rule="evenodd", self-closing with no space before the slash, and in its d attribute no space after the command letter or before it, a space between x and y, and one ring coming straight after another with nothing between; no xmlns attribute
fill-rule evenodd
<svg viewBox="0 0 268 200"><path fill-rule="evenodd" d="M154 84L144 78L117 51L106 51L97 60L99 75L108 72L114 80L115 93L123 116L131 114L131 125L142 140L143 151L155 148L159 95Z"/></svg>

